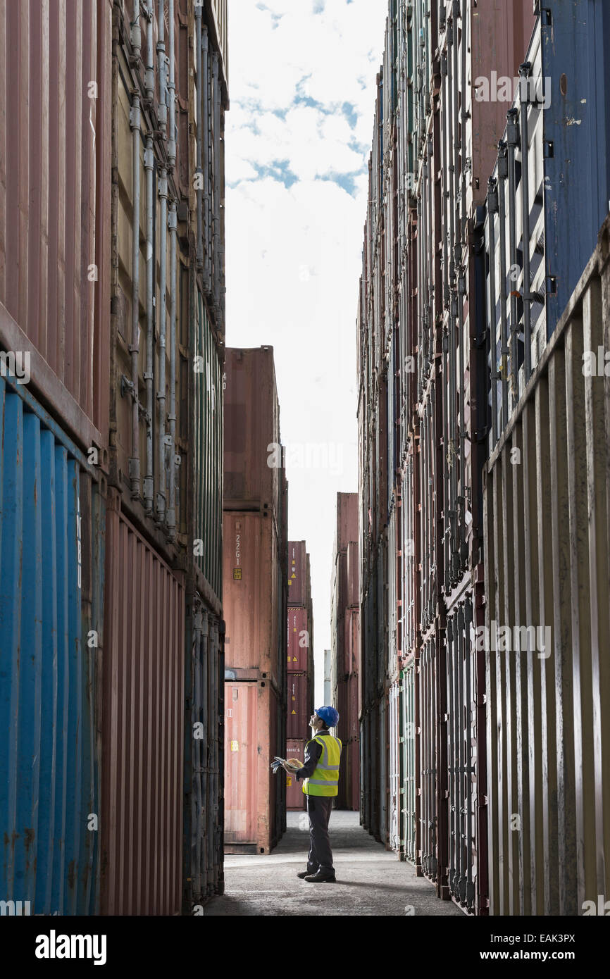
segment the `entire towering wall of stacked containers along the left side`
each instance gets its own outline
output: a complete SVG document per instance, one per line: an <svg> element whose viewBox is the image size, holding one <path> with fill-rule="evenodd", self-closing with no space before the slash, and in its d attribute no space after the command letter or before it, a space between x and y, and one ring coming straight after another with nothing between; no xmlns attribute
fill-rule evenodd
<svg viewBox="0 0 610 979"><path fill-rule="evenodd" d="M44 721L45 691L56 731L37 773L23 737L9 756L3 830L23 843L33 830L38 854L17 893L13 848L2 897L191 913L222 887L226 4L2 17L0 344L31 373L3 385L4 499L34 480L11 504L23 532L2 534L2 673L27 633L34 667L14 708ZM46 525L20 579L24 529ZM46 814L39 836L28 811Z"/></svg>

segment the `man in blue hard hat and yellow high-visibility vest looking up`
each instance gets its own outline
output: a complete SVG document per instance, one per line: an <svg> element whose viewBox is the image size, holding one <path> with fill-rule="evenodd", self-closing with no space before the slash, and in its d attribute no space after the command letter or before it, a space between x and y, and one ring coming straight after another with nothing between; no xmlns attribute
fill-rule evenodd
<svg viewBox="0 0 610 979"><path fill-rule="evenodd" d="M339 766L342 743L329 727L336 727L339 712L334 707L318 707L309 718L313 737L305 745L305 763L297 771L297 779L305 779L303 791L309 816L309 854L307 869L297 874L310 884L333 883L335 868L328 838L328 821L333 799L339 792ZM294 769L288 769L294 775Z"/></svg>

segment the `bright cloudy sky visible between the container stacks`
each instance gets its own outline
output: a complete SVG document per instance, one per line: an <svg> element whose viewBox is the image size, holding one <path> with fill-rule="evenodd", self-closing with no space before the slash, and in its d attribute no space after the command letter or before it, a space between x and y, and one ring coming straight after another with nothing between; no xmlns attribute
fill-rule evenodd
<svg viewBox="0 0 610 979"><path fill-rule="evenodd" d="M227 346L274 348L290 536L311 555L316 703L336 494L357 489L355 315L387 9L229 0Z"/></svg>

